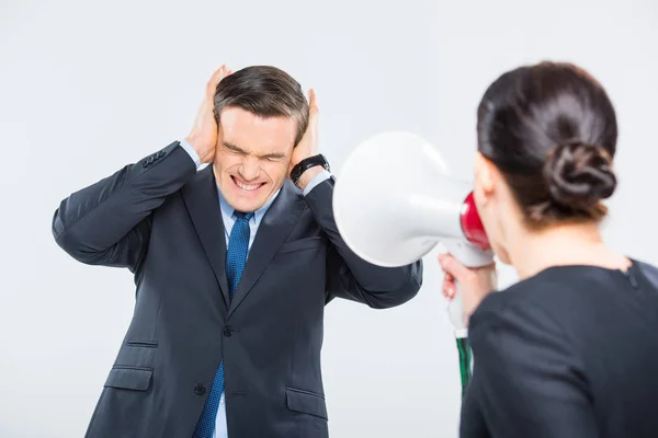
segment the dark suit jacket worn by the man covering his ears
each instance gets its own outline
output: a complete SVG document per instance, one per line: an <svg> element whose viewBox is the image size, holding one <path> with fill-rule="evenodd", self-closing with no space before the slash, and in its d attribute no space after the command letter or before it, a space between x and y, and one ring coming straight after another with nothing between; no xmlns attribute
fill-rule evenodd
<svg viewBox="0 0 658 438"><path fill-rule="evenodd" d="M232 302L212 168L174 142L65 199L57 243L90 265L127 267L136 306L88 437L191 437L224 359L231 438L327 437L325 304L390 308L422 265L373 266L340 238L333 180L306 197L286 181L262 219ZM90 327L90 330L93 330Z"/></svg>

